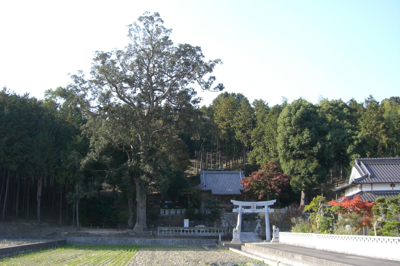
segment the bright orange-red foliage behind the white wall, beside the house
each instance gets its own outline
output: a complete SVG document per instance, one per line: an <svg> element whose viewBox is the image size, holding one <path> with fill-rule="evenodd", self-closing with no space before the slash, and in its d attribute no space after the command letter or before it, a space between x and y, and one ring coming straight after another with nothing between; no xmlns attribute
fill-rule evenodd
<svg viewBox="0 0 400 266"><path fill-rule="evenodd" d="M371 227L372 224L372 207L375 202L368 202L361 200L360 195L354 196L350 199L349 197L342 197L340 200L331 200L328 202L329 206L340 206L336 210L336 214L350 214L355 212L360 215L359 226Z"/></svg>

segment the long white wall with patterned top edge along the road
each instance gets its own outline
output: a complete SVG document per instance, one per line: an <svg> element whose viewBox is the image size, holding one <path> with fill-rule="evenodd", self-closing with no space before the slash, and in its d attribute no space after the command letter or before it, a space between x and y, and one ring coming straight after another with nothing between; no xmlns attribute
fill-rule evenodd
<svg viewBox="0 0 400 266"><path fill-rule="evenodd" d="M400 237L279 232L279 242L306 248L400 260Z"/></svg>

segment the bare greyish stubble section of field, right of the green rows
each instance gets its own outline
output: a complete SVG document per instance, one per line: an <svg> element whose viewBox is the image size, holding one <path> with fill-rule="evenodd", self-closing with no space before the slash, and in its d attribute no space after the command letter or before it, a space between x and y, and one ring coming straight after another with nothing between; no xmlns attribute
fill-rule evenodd
<svg viewBox="0 0 400 266"><path fill-rule="evenodd" d="M241 263L247 265L266 265L236 252L222 249L188 248L139 248L130 266L152 265L209 265L216 262L220 265Z"/></svg>

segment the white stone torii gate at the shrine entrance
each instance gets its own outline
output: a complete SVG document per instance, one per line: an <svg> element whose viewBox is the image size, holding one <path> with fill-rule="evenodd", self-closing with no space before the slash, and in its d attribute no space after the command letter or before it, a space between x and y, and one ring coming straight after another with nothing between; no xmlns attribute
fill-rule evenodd
<svg viewBox="0 0 400 266"><path fill-rule="evenodd" d="M245 202L245 201L238 201L238 200L230 200L234 205L239 206L236 209L233 209L232 212L237 212L238 213L238 224L236 225L236 228L233 230L233 239L232 242L240 243L240 232L242 231L242 212L248 213L260 213L260 212L265 212L265 232L266 232L266 240L265 242L270 242L271 241L271 233L270 233L270 212L274 212L274 209L268 208L268 206L273 205L276 200L270 200L270 201L259 201L259 202ZM242 206L251 206L250 209L244 209ZM257 206L264 206L262 209L257 209Z"/></svg>

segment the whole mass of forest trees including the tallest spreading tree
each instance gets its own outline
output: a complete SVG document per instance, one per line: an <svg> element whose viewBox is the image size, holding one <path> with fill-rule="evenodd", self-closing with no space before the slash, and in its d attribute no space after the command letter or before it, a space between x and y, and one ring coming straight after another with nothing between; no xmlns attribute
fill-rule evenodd
<svg viewBox="0 0 400 266"><path fill-rule="evenodd" d="M345 180L354 158L400 155L398 96L249 102L213 86L220 60L204 61L198 46L174 45L158 13L138 20L142 27L129 26L125 50L96 52L90 78L72 75L43 100L2 89L2 220L36 216L40 224L46 208L60 224L79 225L82 200L107 188L128 206L119 221L142 231L149 195L188 205L196 194L189 176L200 169L248 176L270 161L290 176L288 191L301 194L296 201L304 206L313 189L334 182L333 172ZM200 107L192 86L220 94ZM96 208L115 212L110 202Z"/></svg>

